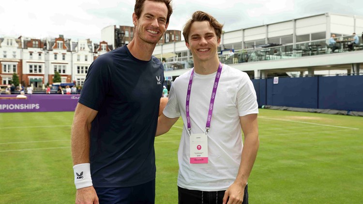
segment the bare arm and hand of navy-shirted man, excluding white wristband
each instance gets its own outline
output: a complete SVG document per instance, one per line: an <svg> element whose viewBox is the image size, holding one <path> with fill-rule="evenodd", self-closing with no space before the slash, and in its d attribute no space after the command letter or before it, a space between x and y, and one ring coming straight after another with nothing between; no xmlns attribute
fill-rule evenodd
<svg viewBox="0 0 363 204"><path fill-rule="evenodd" d="M98 111L77 104L72 125L72 158L73 165L90 163L91 122ZM76 192L76 204L98 204L96 191L92 186L79 188Z"/></svg>

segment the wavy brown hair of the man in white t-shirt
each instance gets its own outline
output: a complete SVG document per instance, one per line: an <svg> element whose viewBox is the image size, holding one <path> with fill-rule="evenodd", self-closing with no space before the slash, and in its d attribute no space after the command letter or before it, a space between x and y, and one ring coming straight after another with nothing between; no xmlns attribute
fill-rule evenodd
<svg viewBox="0 0 363 204"><path fill-rule="evenodd" d="M192 15L192 19L189 19L183 29L183 36L184 36L184 40L185 42L189 43L188 41L188 36L190 33L190 28L192 27L192 24L196 21L208 21L209 24L212 26L212 28L214 29L215 34L217 35L217 39L221 38L222 35L222 28L223 28L223 24L220 24L213 16L211 16L210 14L207 14L205 12L202 11L196 11L194 12L194 14Z"/></svg>

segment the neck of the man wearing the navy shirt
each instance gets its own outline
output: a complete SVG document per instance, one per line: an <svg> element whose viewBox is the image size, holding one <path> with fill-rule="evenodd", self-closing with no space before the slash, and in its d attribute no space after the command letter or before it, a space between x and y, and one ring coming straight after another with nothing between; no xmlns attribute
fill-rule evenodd
<svg viewBox="0 0 363 204"><path fill-rule="evenodd" d="M135 38L127 45L131 54L138 60L149 61L151 59L152 52L154 51L156 44L145 43Z"/></svg>

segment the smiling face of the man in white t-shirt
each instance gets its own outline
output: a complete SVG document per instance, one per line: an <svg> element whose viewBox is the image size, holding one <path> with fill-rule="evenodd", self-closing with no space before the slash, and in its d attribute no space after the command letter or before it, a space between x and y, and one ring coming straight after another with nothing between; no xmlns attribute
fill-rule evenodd
<svg viewBox="0 0 363 204"><path fill-rule="evenodd" d="M196 21L190 27L186 47L193 54L193 60L208 61L217 58L217 47L221 39L218 39L214 29L208 21Z"/></svg>

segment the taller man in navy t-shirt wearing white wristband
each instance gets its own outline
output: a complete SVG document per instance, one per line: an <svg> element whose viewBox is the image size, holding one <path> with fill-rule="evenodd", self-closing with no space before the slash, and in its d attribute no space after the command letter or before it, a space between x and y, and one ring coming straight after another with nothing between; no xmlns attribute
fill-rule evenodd
<svg viewBox="0 0 363 204"><path fill-rule="evenodd" d="M136 0L134 39L90 66L72 126L76 204L155 202L164 70L151 54L171 13L171 0Z"/></svg>

